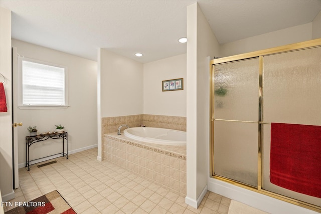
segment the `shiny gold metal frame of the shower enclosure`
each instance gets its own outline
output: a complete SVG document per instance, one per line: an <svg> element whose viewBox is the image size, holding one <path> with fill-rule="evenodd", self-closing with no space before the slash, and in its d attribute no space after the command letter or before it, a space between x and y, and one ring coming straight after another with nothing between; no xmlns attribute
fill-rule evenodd
<svg viewBox="0 0 321 214"><path fill-rule="evenodd" d="M262 189L262 142L263 142L263 136L261 133L262 129L262 124L266 124L261 121L262 119L262 73L263 73L263 56L267 55L272 55L272 54L279 54L279 53L284 53L284 52L290 52L290 51L296 51L296 50L302 50L302 49L308 49L308 48L314 48L314 47L321 47L321 39L316 39L316 40L310 40L310 41L305 41L305 42L300 42L300 43L295 43L295 44L290 44L290 45L285 45L285 46L280 46L276 48L270 48L270 49L265 49L265 50L260 50L260 51L255 51L255 52L250 52L246 54L239 54L239 55L234 55L234 56L229 56L229 57L224 57L224 58L218 58L210 61L210 175L212 178L222 180L228 183L231 183L233 185L243 187L245 189L249 189L264 195L271 196L276 199L280 199L282 201L286 201L304 208L308 208L317 212L321 212L321 206L316 206L314 204L310 204L304 201L300 201L294 198L290 198L284 195L280 195L274 192L267 191L265 189ZM250 185L247 185L245 183L241 183L232 179L228 179L225 177L221 177L218 175L214 174L214 66L217 64L222 64L222 63L227 63L227 62L232 62L232 61L238 61L238 60L245 60L245 59L250 59L250 58L258 58L259 59L259 117L258 117L258 123L259 128L258 128L258 183L257 187L253 187ZM233 120L235 121L235 120ZM244 122L244 121L239 121L239 122ZM252 122L252 121L247 121L247 122Z"/></svg>

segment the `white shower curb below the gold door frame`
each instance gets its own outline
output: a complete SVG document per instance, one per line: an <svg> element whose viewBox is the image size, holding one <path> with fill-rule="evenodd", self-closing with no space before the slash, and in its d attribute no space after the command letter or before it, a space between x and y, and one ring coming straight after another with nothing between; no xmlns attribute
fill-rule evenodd
<svg viewBox="0 0 321 214"><path fill-rule="evenodd" d="M239 201L254 208L273 214L316 214L317 212L301 206L285 202L255 191L251 191L231 183L209 178L208 190Z"/></svg>

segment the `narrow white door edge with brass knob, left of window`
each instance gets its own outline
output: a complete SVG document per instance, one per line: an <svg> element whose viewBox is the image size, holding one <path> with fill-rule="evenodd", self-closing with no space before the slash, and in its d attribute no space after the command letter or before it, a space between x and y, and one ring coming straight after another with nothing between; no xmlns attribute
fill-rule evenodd
<svg viewBox="0 0 321 214"><path fill-rule="evenodd" d="M17 48L12 48L12 84L13 84L13 92L12 92L12 123L13 123L13 178L14 178L14 189L19 187L19 166L18 166L18 131L19 127L22 126L22 122L18 121L17 108L18 108L18 85L17 85L17 77L18 77L18 57L17 57Z"/></svg>

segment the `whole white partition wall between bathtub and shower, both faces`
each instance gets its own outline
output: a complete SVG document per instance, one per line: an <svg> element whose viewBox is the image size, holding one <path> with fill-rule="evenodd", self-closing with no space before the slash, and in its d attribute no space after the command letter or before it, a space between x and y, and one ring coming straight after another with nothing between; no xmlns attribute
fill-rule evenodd
<svg viewBox="0 0 321 214"><path fill-rule="evenodd" d="M210 57L219 44L198 4L187 8L187 196L197 207L209 178Z"/></svg>

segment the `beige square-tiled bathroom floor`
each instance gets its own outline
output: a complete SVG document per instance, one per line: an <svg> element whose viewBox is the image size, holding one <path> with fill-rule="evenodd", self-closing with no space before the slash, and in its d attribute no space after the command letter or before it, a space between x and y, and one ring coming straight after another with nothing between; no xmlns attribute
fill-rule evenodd
<svg viewBox="0 0 321 214"><path fill-rule="evenodd" d="M96 157L93 148L30 171L21 168L12 201L30 201L57 189L77 213L228 213L229 198L208 191L196 209L183 196Z"/></svg>

